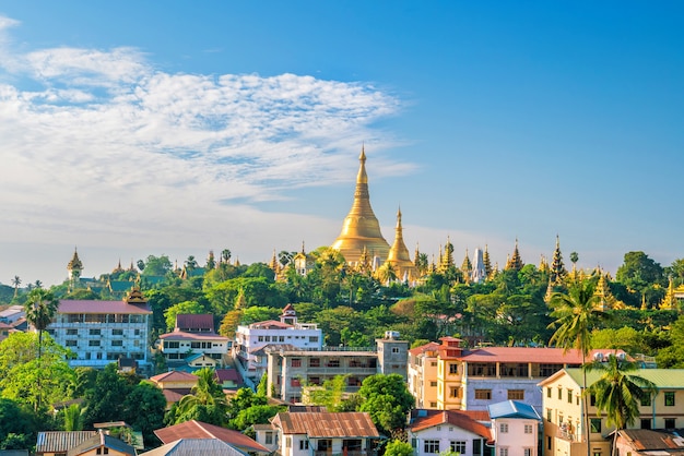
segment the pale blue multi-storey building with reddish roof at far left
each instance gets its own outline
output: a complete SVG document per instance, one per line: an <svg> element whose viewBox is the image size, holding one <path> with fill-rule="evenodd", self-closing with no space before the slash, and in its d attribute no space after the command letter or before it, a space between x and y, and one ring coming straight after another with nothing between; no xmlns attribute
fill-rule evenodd
<svg viewBox="0 0 684 456"><path fill-rule="evenodd" d="M121 301L60 300L47 331L57 344L73 351L71 367L104 368L130 358L148 368L151 314L139 289Z"/></svg>

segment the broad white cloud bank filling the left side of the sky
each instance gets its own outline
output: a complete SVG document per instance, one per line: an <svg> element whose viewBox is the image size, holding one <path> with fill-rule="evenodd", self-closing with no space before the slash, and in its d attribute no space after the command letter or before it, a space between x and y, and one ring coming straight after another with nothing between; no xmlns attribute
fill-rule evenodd
<svg viewBox="0 0 684 456"><path fill-rule="evenodd" d="M314 232L327 220L255 203L350 181L362 141L376 151L396 141L370 125L401 103L369 84L172 74L132 48L21 53L7 39L12 25L0 16L4 239L177 245L223 235L247 243L280 226L298 243L303 226ZM412 167L387 165L376 176Z"/></svg>

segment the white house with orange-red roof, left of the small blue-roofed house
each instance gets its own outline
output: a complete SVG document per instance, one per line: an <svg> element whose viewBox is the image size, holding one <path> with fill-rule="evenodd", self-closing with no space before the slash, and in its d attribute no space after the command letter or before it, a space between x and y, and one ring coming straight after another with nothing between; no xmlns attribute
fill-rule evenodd
<svg viewBox="0 0 684 456"><path fill-rule="evenodd" d="M409 415L406 433L415 456L456 452L488 456L492 432L484 410L414 409Z"/></svg>

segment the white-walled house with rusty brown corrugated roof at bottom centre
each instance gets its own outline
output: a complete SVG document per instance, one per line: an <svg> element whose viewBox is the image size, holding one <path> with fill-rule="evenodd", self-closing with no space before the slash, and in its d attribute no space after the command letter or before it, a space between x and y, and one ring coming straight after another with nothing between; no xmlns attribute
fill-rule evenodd
<svg viewBox="0 0 684 456"><path fill-rule="evenodd" d="M370 455L380 439L365 412L281 412L271 424L282 456Z"/></svg>

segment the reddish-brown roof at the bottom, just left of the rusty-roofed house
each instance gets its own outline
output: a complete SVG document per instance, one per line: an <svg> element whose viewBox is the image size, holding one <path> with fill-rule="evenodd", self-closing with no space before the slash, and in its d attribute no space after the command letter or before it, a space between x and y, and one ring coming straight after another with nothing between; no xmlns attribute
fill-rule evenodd
<svg viewBox="0 0 684 456"><path fill-rule="evenodd" d="M240 432L196 420L157 429L154 434L165 444L180 439L219 439L245 452L269 453L267 447Z"/></svg>

